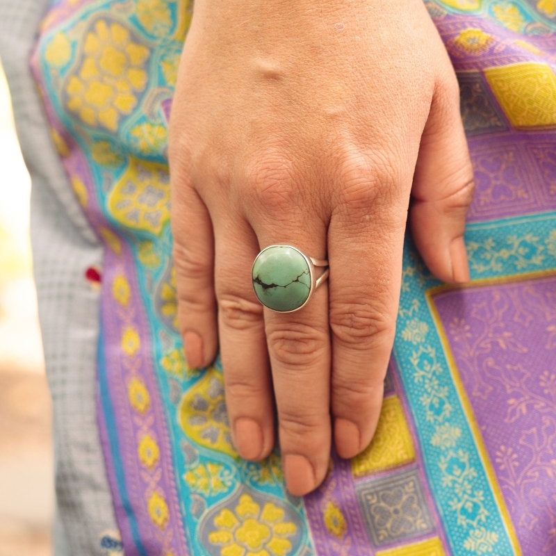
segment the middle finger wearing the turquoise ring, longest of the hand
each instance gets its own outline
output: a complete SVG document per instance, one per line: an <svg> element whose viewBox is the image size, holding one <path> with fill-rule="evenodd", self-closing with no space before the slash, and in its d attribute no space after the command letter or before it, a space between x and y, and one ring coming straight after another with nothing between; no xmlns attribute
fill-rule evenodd
<svg viewBox="0 0 556 556"><path fill-rule="evenodd" d="M324 243L325 230L311 235ZM316 254L317 258L324 258L325 254L321 242L296 238L295 234L280 234L279 238L261 235L260 241L262 247L284 242L306 254ZM297 270L293 270L293 279L297 275ZM330 455L326 282L298 311L264 311L284 477L288 490L302 496L322 482Z"/></svg>

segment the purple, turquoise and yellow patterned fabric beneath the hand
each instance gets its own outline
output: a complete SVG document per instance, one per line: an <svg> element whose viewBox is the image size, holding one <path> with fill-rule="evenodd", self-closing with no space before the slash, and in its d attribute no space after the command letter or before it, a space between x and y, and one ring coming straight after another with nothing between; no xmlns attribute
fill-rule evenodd
<svg viewBox="0 0 556 556"><path fill-rule="evenodd" d="M475 167L472 281L439 284L407 240L377 435L295 498L276 452L236 454L219 361L181 354L165 149L191 6L51 6L32 63L104 245L97 416L126 555L556 553L556 4L427 7Z"/></svg>

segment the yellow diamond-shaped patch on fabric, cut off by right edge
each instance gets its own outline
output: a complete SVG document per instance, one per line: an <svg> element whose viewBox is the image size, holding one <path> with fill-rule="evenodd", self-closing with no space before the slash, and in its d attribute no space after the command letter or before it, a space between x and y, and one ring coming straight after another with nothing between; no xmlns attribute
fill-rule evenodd
<svg viewBox="0 0 556 556"><path fill-rule="evenodd" d="M556 75L550 66L528 62L489 67L484 75L514 127L556 124Z"/></svg>

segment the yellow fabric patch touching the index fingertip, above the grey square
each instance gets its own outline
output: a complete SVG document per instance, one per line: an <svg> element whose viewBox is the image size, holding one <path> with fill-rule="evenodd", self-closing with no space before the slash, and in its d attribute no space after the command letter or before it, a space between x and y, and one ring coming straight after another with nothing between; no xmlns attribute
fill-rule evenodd
<svg viewBox="0 0 556 556"><path fill-rule="evenodd" d="M384 398L373 441L352 459L355 477L407 464L415 459L411 433L397 395Z"/></svg>

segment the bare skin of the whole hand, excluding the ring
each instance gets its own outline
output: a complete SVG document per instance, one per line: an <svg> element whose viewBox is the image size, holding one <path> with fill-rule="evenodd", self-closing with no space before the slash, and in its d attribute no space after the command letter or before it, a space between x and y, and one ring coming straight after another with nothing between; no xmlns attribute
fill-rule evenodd
<svg viewBox="0 0 556 556"><path fill-rule="evenodd" d="M220 345L238 452L262 459L277 433L288 490L308 493L332 441L347 458L373 438L409 206L430 270L468 279L473 172L422 1L197 0L169 155L188 363ZM273 243L329 259L295 313L263 310L252 291Z"/></svg>

